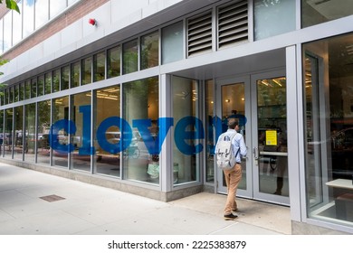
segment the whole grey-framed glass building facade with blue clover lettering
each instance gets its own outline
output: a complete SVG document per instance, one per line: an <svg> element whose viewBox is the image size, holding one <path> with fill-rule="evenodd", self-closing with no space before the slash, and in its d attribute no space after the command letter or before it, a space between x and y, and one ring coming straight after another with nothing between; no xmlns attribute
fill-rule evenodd
<svg viewBox="0 0 353 253"><path fill-rule="evenodd" d="M22 0L1 162L171 201L226 193L215 140L239 118L237 194L293 234L353 232L353 2Z"/></svg>

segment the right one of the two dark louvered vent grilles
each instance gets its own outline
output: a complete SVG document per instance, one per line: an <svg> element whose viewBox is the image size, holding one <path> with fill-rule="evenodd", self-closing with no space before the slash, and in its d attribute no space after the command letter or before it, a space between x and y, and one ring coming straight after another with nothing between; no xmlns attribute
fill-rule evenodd
<svg viewBox="0 0 353 253"><path fill-rule="evenodd" d="M248 42L248 5L246 0L218 9L218 48Z"/></svg>

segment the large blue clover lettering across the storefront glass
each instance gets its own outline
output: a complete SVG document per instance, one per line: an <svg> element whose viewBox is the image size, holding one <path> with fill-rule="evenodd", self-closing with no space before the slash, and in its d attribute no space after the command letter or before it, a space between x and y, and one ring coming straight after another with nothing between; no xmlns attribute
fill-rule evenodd
<svg viewBox="0 0 353 253"><path fill-rule="evenodd" d="M91 146L91 106L81 106L79 111L82 114L82 133L81 133L81 147L79 147L79 155L93 155L95 154L94 147ZM106 133L111 126L117 126L120 129L118 143L111 143ZM161 147L167 136L170 126L174 126L173 117L159 117L157 119L157 126L159 132L154 137L149 131L152 126L150 119L134 119L132 120L132 127L138 129L138 134L148 149L150 155L158 155ZM222 134L222 120L219 117L212 119L212 130L215 129L216 139ZM192 130L189 130L192 129ZM62 144L60 142L60 132L75 135L76 126L72 120L60 119L56 121L50 132L50 145L52 149L61 153L72 153L75 149L73 144ZM131 144L133 138L133 130L129 122L121 117L107 117L104 119L96 132L97 141L100 147L110 154L117 154L126 150ZM176 147L185 155L195 155L204 150L204 145L197 143L197 140L205 138L205 128L202 121L197 117L183 117L175 126L174 139ZM213 148L211 150L214 150Z"/></svg>

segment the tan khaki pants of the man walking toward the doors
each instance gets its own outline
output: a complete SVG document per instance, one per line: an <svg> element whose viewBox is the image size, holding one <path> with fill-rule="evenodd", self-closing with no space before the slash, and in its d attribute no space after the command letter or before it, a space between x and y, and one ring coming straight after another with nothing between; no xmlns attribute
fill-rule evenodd
<svg viewBox="0 0 353 253"><path fill-rule="evenodd" d="M224 170L225 183L228 189L227 201L225 202L224 215L231 214L232 210L236 210L236 190L242 179L242 166L235 164L231 170Z"/></svg>

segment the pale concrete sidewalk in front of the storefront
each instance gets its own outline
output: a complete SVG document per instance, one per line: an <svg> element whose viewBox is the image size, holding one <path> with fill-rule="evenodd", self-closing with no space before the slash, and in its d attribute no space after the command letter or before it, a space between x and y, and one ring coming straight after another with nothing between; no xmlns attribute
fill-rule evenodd
<svg viewBox="0 0 353 253"><path fill-rule="evenodd" d="M1 235L291 234L290 209L202 192L163 202L0 163Z"/></svg>

